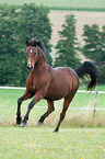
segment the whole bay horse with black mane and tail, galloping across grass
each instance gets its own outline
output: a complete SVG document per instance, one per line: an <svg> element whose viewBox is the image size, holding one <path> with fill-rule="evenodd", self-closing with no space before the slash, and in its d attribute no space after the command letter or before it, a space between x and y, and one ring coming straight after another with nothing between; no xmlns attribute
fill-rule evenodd
<svg viewBox="0 0 105 159"><path fill-rule="evenodd" d="M46 63L46 53L42 41L26 41L26 46L27 70L30 75L26 79L26 90L18 100L16 124L25 127L31 110L38 101L45 99L48 103L48 110L40 116L37 123L37 126L43 125L45 118L55 111L54 101L65 98L59 122L54 130L58 132L66 111L79 89L79 77L90 76L91 80L88 84L88 90L92 90L96 86L97 69L91 61L84 61L74 70L70 67L52 68ZM26 114L22 120L21 104L24 100L31 98L33 100L28 104Z"/></svg>

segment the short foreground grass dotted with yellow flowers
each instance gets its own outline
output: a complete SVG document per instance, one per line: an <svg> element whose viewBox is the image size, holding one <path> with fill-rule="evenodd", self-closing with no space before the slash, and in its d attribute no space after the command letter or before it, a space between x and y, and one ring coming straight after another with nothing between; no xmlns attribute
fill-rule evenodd
<svg viewBox="0 0 105 159"><path fill-rule="evenodd" d="M0 127L2 159L104 159L105 128Z"/></svg>

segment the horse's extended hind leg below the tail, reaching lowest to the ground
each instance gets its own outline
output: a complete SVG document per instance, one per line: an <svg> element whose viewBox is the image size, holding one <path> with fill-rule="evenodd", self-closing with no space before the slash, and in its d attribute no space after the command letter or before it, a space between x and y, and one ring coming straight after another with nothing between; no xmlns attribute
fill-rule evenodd
<svg viewBox="0 0 105 159"><path fill-rule="evenodd" d="M62 112L60 113L60 118L59 118L58 125L57 125L57 127L55 128L54 132L58 132L58 130L59 130L59 126L60 126L62 120L65 118L66 111L68 110L69 104L70 104L70 102L72 101L72 99L73 99L75 92L77 92L77 90L73 90L72 92L70 92L70 93L65 98L65 103L63 103Z"/></svg>

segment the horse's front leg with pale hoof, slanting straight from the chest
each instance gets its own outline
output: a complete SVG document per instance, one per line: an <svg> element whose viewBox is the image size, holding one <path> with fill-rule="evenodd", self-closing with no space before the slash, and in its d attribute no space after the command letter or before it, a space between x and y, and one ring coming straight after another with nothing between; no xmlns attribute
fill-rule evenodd
<svg viewBox="0 0 105 159"><path fill-rule="evenodd" d="M27 120L28 120L28 115L30 115L30 112L31 112L31 110L34 107L34 105L38 102L38 101L40 101L42 99L44 98L44 92L36 92L35 93L35 95L34 95L34 99L32 100L32 102L28 104L28 107L27 107L27 112L26 112L26 114L25 114L25 116L24 116L24 120L22 121L22 123L21 123L21 127L25 127L26 126L26 122L27 122Z"/></svg>

